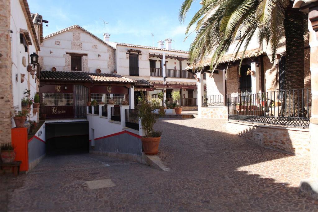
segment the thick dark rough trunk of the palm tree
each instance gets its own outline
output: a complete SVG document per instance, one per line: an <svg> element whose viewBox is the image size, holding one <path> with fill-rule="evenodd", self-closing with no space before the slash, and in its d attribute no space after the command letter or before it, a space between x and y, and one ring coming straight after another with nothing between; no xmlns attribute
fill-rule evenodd
<svg viewBox="0 0 318 212"><path fill-rule="evenodd" d="M293 9L290 1L285 11L286 71L285 90L304 88L304 15ZM283 108L287 117L303 117L302 91L285 92Z"/></svg>

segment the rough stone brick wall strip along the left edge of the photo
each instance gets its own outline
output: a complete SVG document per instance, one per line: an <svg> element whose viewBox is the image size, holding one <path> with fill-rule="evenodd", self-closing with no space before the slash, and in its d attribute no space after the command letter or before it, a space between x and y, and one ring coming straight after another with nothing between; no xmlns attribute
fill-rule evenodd
<svg viewBox="0 0 318 212"><path fill-rule="evenodd" d="M11 111L13 110L10 0L0 1L0 143L11 142Z"/></svg>

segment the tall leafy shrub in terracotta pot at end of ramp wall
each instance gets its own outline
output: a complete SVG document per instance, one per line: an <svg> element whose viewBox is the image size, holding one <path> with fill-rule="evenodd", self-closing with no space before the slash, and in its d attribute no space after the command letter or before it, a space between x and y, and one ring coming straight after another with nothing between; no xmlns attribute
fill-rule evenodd
<svg viewBox="0 0 318 212"><path fill-rule="evenodd" d="M146 101L142 94L142 100L138 106L138 117L141 120L142 128L146 135L141 138L142 147L145 154L154 155L158 153L159 143L161 139L161 132L154 130L154 124L159 117L164 115L164 110L160 107L158 101ZM159 116L153 113L154 110L159 109Z"/></svg>

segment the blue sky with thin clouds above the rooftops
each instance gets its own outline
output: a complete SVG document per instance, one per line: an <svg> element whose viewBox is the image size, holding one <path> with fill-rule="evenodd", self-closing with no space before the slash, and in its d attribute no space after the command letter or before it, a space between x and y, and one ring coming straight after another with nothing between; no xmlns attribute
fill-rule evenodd
<svg viewBox="0 0 318 212"><path fill-rule="evenodd" d="M178 20L182 0L29 0L32 13L39 13L49 21L43 27L46 36L55 31L78 24L99 38L105 32L111 34L110 41L157 46L158 40L172 38L173 49L188 50L195 33L183 42L186 24L197 10L199 1L193 3L184 24ZM151 36L154 34L154 37Z"/></svg>

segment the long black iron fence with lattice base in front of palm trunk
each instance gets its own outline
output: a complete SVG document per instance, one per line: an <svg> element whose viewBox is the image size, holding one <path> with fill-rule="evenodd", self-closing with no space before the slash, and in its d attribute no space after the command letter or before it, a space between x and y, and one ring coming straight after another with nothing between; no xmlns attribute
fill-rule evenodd
<svg viewBox="0 0 318 212"><path fill-rule="evenodd" d="M311 96L311 89L294 89L230 97L228 119L309 127Z"/></svg>

